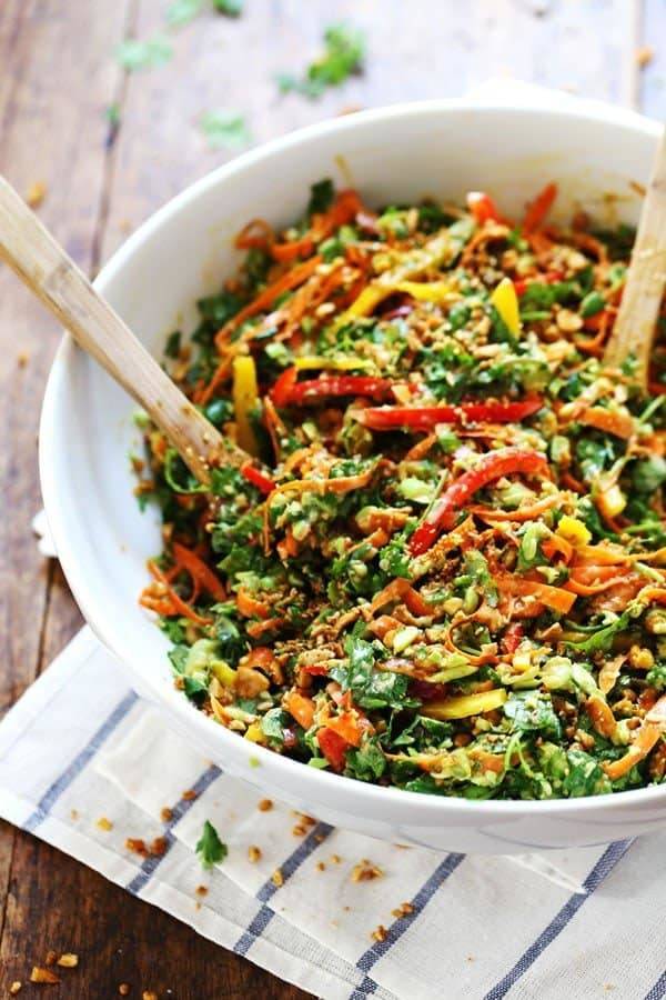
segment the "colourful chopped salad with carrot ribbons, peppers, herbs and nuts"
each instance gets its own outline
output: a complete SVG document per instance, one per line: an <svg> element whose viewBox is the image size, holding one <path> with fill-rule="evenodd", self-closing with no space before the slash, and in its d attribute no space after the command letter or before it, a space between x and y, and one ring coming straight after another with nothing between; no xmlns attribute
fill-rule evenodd
<svg viewBox="0 0 666 1000"><path fill-rule="evenodd" d="M239 739L467 799L664 781L666 356L647 396L604 368L634 234L556 197L377 212L321 181L169 338L248 460L202 484L140 421L141 603Z"/></svg>

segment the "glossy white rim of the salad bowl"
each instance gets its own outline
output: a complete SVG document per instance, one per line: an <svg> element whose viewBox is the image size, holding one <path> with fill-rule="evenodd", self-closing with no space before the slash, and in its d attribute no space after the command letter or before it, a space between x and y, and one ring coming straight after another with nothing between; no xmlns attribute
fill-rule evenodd
<svg viewBox="0 0 666 1000"><path fill-rule="evenodd" d="M563 94L563 98L567 97ZM254 164L270 162L276 153L301 144L309 144L324 136L363 130L366 126L398 119L437 114L455 117L470 112L476 112L481 116L504 112L518 118L528 118L537 113L552 119L554 126L556 122L563 123L572 120L605 122L614 129L632 133L639 132L655 140L660 133L658 122L637 112L614 108L599 101L583 101L576 98L571 98L571 107L564 103L545 106L526 93L525 99L513 98L511 102L503 100L501 97L497 99L447 98L401 102L359 111L336 119L327 119L297 129L235 157L231 162L212 170L184 188L179 194L153 212L113 252L109 261L100 270L93 284L103 293L108 283L125 267L131 264L132 257L137 250L143 247L167 221L185 211L191 202L203 196L211 188L224 184L226 180L234 178ZM579 107L576 107L576 102L579 103ZM139 673L129 650L123 648L122 641L119 641L120 630L113 628L113 623L104 617L103 600L93 598L92 589L87 587L84 564L77 557L75 546L72 547L69 542L67 520L61 517L58 460L61 447L57 434L59 423L57 414L60 401L64 398L62 390L67 386L68 379L71 378L78 357L80 357L79 349L75 347L71 336L65 332L56 352L49 373L39 427L39 471L47 520L54 539L58 559L85 621L100 641L129 670L133 673ZM164 684L157 673L154 678L151 678L149 672L145 671L140 677L140 687L143 690L149 689L158 704L165 704L167 710L179 718L182 727L186 726L196 732L201 732L200 743L214 739L220 747L220 758L223 758L226 751L229 751L230 758L240 758L244 753L245 764L248 763L248 748L243 747L236 733L229 732L221 726L213 728L206 716L192 706L181 692L175 691L169 684ZM365 811L362 803L366 806L367 811L373 810L374 816L382 819L390 816L397 818L405 810L408 810L410 826L418 824L420 821L432 821L436 817L443 818L447 812L461 819L467 818L470 821L515 820L521 814L531 817L549 816L551 818L557 817L566 820L579 818L583 813L618 811L629 806L666 807L666 784L574 799L474 800L445 794L440 796L432 792L408 792L401 788L382 787L353 778L345 778L342 774L327 770L310 768L300 761L283 757L255 743L251 744L250 756L256 758L261 764L261 767L256 767L254 773L258 777L261 774L266 779L263 780L262 778L261 782L258 781L256 783L266 784L274 776L276 788L281 790L285 786L291 786L295 780L300 787L300 794L304 798L311 797L313 804L316 806L317 802L330 799L332 808L354 811L361 818L363 818ZM281 780L281 776L284 776L284 780ZM355 809L356 806L361 807L361 809Z"/></svg>

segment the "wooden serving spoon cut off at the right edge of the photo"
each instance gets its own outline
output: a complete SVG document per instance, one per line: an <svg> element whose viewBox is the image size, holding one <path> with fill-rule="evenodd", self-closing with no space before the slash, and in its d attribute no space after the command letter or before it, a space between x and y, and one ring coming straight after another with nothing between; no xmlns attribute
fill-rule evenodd
<svg viewBox="0 0 666 1000"><path fill-rule="evenodd" d="M604 363L619 368L633 354L636 378L647 390L647 373L666 284L666 130L640 210L640 221Z"/></svg>

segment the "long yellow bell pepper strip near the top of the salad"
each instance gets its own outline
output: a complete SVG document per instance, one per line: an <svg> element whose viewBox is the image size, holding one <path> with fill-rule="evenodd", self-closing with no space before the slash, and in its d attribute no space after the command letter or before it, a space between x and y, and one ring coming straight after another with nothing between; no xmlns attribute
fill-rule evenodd
<svg viewBox="0 0 666 1000"><path fill-rule="evenodd" d="M411 282L430 268L448 267L472 236L473 223L471 219L461 219L448 229L438 232L423 247L410 250L403 254L403 259L394 268L384 271L371 284L367 284L359 298L352 302L341 316L335 326L364 316L370 316L384 299L400 291L400 286ZM437 282L441 284L443 282ZM412 294L412 292L410 292Z"/></svg>

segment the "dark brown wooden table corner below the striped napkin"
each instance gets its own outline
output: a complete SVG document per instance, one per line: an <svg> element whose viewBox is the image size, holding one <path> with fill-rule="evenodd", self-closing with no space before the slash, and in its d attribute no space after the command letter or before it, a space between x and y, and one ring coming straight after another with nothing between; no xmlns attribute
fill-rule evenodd
<svg viewBox="0 0 666 1000"><path fill-rule="evenodd" d="M40 914L48 919L34 923ZM44 990L52 1000L103 1000L118 997L122 982L135 1000L143 990L173 1000L306 997L36 838L26 838L12 871L7 922L2 996L54 950L78 954L78 968L56 969L59 986L28 988L21 997Z"/></svg>

